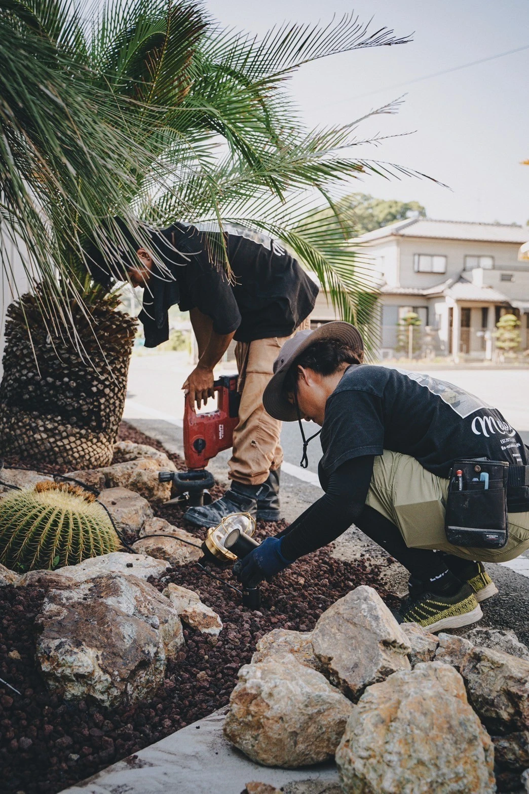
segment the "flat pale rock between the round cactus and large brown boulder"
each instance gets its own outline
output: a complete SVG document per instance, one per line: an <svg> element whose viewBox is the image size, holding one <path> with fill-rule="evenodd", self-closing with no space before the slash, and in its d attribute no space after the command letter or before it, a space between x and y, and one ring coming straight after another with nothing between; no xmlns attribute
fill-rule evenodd
<svg viewBox="0 0 529 794"><path fill-rule="evenodd" d="M103 573L122 573L125 576L137 576L138 579L147 580L149 576L158 579L170 567L167 562L155 560L154 557L148 557L146 554L113 551L110 554L102 554L101 557L90 557L77 565L66 565L50 573L56 576L68 576L76 582L94 579L95 576L101 576Z"/></svg>

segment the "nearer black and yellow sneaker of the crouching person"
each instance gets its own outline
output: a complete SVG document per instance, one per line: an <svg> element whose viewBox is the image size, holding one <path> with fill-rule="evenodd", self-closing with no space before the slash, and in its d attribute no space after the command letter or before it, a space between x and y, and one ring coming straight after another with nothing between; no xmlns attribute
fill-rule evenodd
<svg viewBox="0 0 529 794"><path fill-rule="evenodd" d="M420 592L419 583L410 588L410 600L402 616L403 623L419 623L428 631L458 629L481 620L483 612L470 584L454 595Z"/></svg>

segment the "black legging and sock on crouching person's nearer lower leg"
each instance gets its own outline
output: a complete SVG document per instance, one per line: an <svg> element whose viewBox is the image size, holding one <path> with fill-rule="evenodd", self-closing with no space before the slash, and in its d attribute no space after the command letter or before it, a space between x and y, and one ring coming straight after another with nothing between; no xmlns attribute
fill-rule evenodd
<svg viewBox="0 0 529 794"><path fill-rule="evenodd" d="M431 549L408 549L397 526L373 507L366 505L355 523L368 538L404 565L427 590L454 595L461 588L458 577L448 570L443 554Z"/></svg>

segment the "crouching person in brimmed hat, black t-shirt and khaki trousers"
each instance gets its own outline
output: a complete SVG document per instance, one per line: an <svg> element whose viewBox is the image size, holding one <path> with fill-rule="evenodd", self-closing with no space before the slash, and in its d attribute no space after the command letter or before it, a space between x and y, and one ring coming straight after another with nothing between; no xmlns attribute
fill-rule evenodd
<svg viewBox="0 0 529 794"><path fill-rule="evenodd" d="M362 337L347 322L299 331L282 346L263 403L274 418L299 421L302 435L301 418L321 426L325 494L244 557L239 578L270 578L355 523L410 573L404 622L466 626L497 592L482 562L529 548L527 449L483 400L362 359Z"/></svg>

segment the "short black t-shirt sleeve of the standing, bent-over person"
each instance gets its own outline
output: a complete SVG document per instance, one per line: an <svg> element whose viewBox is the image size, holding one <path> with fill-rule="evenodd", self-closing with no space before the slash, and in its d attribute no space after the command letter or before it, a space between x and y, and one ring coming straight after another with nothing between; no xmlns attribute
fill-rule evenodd
<svg viewBox="0 0 529 794"><path fill-rule="evenodd" d="M198 241L194 241L196 251ZM213 320L213 330L225 334L236 331L241 316L232 287L222 266L209 260L205 249L190 253L190 264L186 265L186 296L180 303L182 311L200 309Z"/></svg>

